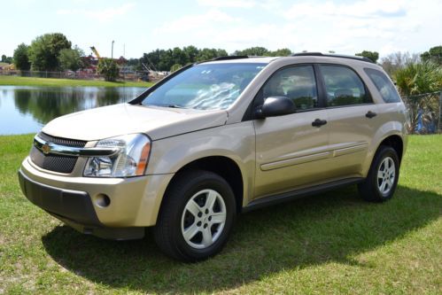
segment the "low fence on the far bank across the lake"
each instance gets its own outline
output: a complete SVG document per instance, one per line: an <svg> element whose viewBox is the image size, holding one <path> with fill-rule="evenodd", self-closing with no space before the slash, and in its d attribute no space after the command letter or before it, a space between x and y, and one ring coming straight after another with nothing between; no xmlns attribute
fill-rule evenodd
<svg viewBox="0 0 442 295"><path fill-rule="evenodd" d="M0 70L0 75L36 77L36 78L55 78L55 79L79 79L79 80L104 80L104 76L92 71L18 71L18 70ZM120 73L120 81L138 81L142 78L145 80L146 74L142 73Z"/></svg>

